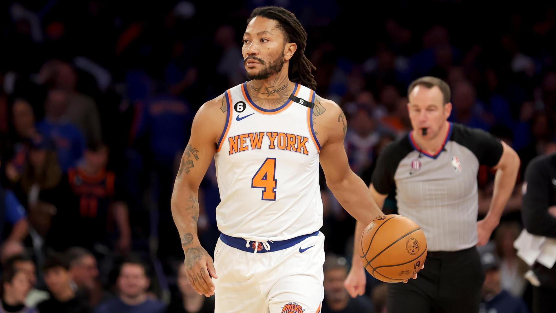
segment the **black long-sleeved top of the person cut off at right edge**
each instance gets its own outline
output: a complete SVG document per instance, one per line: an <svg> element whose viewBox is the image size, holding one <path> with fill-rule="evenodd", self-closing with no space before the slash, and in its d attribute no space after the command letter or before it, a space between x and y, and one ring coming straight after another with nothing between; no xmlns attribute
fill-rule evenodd
<svg viewBox="0 0 556 313"><path fill-rule="evenodd" d="M525 169L522 218L529 233L556 238L556 217L548 212L554 188L548 161L546 156L537 157Z"/></svg>

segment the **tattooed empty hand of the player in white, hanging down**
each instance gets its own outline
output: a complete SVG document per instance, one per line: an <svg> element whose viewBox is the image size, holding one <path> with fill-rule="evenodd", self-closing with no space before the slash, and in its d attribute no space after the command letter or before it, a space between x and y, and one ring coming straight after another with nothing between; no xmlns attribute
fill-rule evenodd
<svg viewBox="0 0 556 313"><path fill-rule="evenodd" d="M199 243L190 244L183 250L185 251L183 263L193 289L199 295L206 297L214 295L215 287L211 277L218 278L218 276L209 253Z"/></svg>

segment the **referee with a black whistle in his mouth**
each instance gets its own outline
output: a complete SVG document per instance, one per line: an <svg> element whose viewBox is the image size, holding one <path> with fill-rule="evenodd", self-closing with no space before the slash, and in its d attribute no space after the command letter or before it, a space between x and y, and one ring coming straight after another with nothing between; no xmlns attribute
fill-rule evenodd
<svg viewBox="0 0 556 313"><path fill-rule="evenodd" d="M450 87L421 77L408 89L413 131L386 146L373 173L371 193L379 207L395 187L399 214L415 221L426 236L428 255L416 280L388 285L389 313L478 312L484 272L475 246L488 242L512 194L519 157L483 130L449 123ZM497 170L486 217L477 222L477 170ZM355 229L355 246L365 225ZM351 296L365 290L365 272L354 249L345 287Z"/></svg>

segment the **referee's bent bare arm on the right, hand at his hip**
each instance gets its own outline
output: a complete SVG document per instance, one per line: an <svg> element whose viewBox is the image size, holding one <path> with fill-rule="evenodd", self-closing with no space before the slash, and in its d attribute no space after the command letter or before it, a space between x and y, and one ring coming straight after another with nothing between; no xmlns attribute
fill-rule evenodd
<svg viewBox="0 0 556 313"><path fill-rule="evenodd" d="M490 234L498 226L504 207L513 193L515 179L519 171L520 160L518 154L503 141L501 143L502 156L494 167L496 175L494 177L492 201L485 218L479 221L479 246L488 242ZM488 153L488 148L486 150L485 153Z"/></svg>

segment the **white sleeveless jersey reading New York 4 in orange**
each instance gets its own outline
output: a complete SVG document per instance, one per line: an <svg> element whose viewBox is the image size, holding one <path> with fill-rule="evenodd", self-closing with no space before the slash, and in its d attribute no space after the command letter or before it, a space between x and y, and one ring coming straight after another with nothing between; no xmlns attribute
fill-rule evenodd
<svg viewBox="0 0 556 313"><path fill-rule="evenodd" d="M319 141L312 130L315 92L296 84L297 102L257 106L246 82L226 91L226 125L215 154L219 230L232 237L278 241L322 226Z"/></svg>

